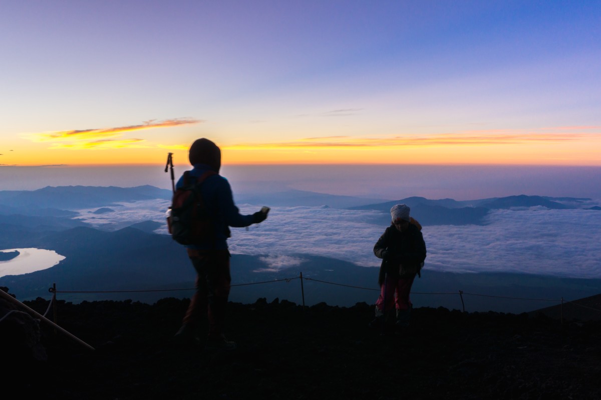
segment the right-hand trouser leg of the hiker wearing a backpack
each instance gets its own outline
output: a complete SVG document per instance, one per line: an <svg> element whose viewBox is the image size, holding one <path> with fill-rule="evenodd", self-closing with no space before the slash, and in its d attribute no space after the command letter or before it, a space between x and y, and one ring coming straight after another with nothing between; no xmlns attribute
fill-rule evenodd
<svg viewBox="0 0 601 400"><path fill-rule="evenodd" d="M230 252L227 250L213 251L207 279L210 338L217 338L224 331L225 308L230 295L230 283Z"/></svg>

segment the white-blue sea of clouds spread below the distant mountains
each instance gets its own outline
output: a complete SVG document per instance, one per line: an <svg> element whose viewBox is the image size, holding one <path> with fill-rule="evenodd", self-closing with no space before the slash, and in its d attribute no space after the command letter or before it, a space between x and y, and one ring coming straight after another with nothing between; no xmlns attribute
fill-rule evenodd
<svg viewBox="0 0 601 400"><path fill-rule="evenodd" d="M102 228L165 221L166 200L121 203L111 213L79 210L85 221ZM260 207L243 204L250 214ZM359 266L379 266L373 245L385 230L381 213L328 207L273 207L261 224L233 228L233 254L260 255L270 270L285 269L321 255ZM415 215L419 219L419 215ZM447 272L525 272L601 278L601 212L540 207L493 210L486 225L431 225L423 228L426 268ZM156 233L166 234L166 227Z"/></svg>

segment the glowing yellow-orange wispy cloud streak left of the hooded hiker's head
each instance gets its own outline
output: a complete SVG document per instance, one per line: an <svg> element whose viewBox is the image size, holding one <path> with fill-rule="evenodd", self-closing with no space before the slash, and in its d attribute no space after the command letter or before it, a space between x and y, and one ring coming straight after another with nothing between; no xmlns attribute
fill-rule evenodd
<svg viewBox="0 0 601 400"><path fill-rule="evenodd" d="M50 142L52 143L50 149L150 148L161 146L146 143L144 139L121 139L121 137L129 132L155 128L172 128L182 125L200 124L201 122L203 121L200 119L192 118L166 119L164 121L151 119L142 122L142 124L127 125L124 127L28 133L21 136L32 142Z"/></svg>

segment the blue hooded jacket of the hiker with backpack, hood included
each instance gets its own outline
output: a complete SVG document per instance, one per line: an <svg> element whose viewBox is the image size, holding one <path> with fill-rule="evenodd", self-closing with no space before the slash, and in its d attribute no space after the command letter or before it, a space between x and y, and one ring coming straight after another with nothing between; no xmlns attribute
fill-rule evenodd
<svg viewBox="0 0 601 400"><path fill-rule="evenodd" d="M255 221L252 215L241 215L234 204L230 182L218 175L221 168L221 150L208 139L198 139L190 147L189 160L194 169L189 172L191 184L207 171L215 172L205 179L201 187L203 201L207 209L212 210L215 228L215 240L197 245L186 246L194 249L227 249L229 227L246 227ZM184 178L179 179L175 188L184 185Z"/></svg>

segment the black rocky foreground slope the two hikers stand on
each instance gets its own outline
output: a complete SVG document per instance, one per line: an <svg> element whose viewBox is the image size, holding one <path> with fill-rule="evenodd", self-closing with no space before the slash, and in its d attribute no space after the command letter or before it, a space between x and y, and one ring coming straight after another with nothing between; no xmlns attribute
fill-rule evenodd
<svg viewBox="0 0 601 400"><path fill-rule="evenodd" d="M230 303L239 348L223 353L172 344L187 305L60 302L59 324L96 350L43 327L48 359L5 359L4 389L46 399L601 398L596 321L417 308L406 332L382 336L365 303L304 310L260 299Z"/></svg>

